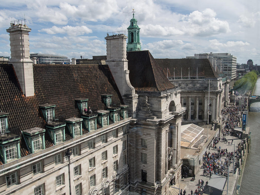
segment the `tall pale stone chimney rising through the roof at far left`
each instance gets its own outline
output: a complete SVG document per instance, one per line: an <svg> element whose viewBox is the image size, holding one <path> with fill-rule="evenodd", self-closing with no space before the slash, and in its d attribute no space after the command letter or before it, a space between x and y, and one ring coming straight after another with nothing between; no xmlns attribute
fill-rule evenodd
<svg viewBox="0 0 260 195"><path fill-rule="evenodd" d="M25 20L24 20L25 21ZM12 24L9 29L11 60L18 81L25 96L34 95L34 80L33 80L33 61L30 59L29 49L29 32L31 31L27 25L17 23Z"/></svg>

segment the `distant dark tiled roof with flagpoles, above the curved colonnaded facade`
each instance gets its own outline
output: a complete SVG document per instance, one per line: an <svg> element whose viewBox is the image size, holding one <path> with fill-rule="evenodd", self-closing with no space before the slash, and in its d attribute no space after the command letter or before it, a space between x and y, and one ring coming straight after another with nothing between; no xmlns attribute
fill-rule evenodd
<svg viewBox="0 0 260 195"><path fill-rule="evenodd" d="M191 77L197 76L197 68L199 77L219 77L208 59L155 59L155 61L162 68L165 75L167 75L167 68L169 69L168 77L173 77L174 72L177 77L181 76L181 72L183 77L189 76L189 68Z"/></svg>

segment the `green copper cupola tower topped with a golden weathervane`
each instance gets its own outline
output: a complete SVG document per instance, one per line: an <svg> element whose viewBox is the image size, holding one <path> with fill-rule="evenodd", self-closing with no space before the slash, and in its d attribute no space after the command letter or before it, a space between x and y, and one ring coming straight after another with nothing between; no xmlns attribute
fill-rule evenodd
<svg viewBox="0 0 260 195"><path fill-rule="evenodd" d="M139 31L140 28L137 25L137 20L134 18L134 9L133 9L133 18L130 20L130 26L128 30L128 41L126 46L126 51L141 51L141 43Z"/></svg>

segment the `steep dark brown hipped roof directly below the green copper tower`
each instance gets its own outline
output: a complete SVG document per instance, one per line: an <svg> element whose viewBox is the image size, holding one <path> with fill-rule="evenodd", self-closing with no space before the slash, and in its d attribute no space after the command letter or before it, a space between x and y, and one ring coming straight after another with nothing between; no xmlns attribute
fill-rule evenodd
<svg viewBox="0 0 260 195"><path fill-rule="evenodd" d="M146 51L128 51L129 79L137 91L162 92L176 88L162 72L152 54Z"/></svg>

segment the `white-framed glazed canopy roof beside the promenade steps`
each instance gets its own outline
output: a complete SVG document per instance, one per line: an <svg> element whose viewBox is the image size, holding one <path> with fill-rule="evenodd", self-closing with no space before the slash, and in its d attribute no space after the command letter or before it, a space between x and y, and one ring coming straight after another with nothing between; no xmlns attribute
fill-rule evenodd
<svg viewBox="0 0 260 195"><path fill-rule="evenodd" d="M191 146L203 135L203 128L193 123L181 125L181 146L191 148Z"/></svg>

